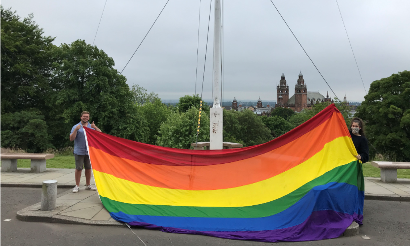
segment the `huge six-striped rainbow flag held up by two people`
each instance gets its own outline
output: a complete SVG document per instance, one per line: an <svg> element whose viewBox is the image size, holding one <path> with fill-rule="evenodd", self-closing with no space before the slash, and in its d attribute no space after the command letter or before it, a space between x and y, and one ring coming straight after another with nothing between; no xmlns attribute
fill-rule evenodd
<svg viewBox="0 0 410 246"><path fill-rule="evenodd" d="M85 131L99 196L118 221L262 242L335 238L362 224L362 165L334 104L242 149L181 150Z"/></svg>

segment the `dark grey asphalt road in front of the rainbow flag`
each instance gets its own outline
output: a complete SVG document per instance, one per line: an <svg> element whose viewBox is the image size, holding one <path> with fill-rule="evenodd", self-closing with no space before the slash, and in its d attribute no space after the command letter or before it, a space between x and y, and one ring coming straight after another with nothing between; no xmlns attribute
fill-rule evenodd
<svg viewBox="0 0 410 246"><path fill-rule="evenodd" d="M64 192L67 189L59 189ZM41 200L40 188L1 187L1 246L144 246L126 226L91 226L24 222L16 212ZM410 202L365 201L364 225L360 235L336 239L279 243L281 246L409 246ZM3 221L11 218L9 222ZM272 243L226 240L220 238L171 234L133 228L147 246L265 246ZM367 235L371 239L365 240Z"/></svg>

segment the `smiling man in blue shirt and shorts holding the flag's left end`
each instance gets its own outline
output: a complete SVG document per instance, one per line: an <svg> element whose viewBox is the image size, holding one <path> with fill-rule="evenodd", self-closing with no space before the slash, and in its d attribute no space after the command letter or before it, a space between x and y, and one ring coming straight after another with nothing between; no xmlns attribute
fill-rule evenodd
<svg viewBox="0 0 410 246"><path fill-rule="evenodd" d="M79 190L81 172L85 168L85 189L97 190L96 187L90 185L91 181L91 162L88 156L87 145L85 143L85 135L83 127L88 127L93 130L101 132L101 130L93 123L89 123L90 113L82 111L81 121L73 126L70 133L70 141L74 141L74 157L75 157L75 187L73 193L77 193Z"/></svg>

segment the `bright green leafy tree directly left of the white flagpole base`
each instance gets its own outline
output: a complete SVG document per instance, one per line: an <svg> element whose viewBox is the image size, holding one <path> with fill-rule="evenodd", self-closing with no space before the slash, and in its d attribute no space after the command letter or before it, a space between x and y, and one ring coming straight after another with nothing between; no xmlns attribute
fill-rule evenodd
<svg viewBox="0 0 410 246"><path fill-rule="evenodd" d="M199 109L189 108L186 112L172 112L167 121L161 124L158 132L157 144L159 146L191 149L191 143L196 141L196 130ZM195 122L192 119L196 119ZM209 115L201 114L201 127L198 134L198 142L209 141Z"/></svg>

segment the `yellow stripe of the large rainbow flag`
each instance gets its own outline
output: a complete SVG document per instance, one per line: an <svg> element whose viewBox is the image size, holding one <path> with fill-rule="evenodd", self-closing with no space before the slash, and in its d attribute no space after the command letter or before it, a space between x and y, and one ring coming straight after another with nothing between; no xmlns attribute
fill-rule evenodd
<svg viewBox="0 0 410 246"><path fill-rule="evenodd" d="M308 160L286 172L254 184L218 190L160 188L119 179L96 170L94 170L94 178L101 196L123 203L243 207L266 203L285 196L335 167L357 160L355 153L351 138L339 137L327 143L320 152ZM250 158L249 161L258 162L258 159Z"/></svg>

